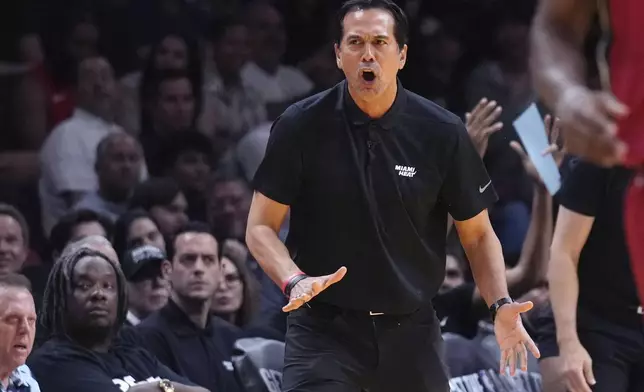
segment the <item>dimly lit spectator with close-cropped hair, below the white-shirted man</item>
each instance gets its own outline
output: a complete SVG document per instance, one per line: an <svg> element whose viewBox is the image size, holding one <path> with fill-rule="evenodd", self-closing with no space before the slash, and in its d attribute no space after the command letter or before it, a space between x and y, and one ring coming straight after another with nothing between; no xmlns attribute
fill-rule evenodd
<svg viewBox="0 0 644 392"><path fill-rule="evenodd" d="M107 135L96 148L98 190L86 194L74 209L92 210L115 221L127 210L134 187L141 179L143 151L127 133Z"/></svg>

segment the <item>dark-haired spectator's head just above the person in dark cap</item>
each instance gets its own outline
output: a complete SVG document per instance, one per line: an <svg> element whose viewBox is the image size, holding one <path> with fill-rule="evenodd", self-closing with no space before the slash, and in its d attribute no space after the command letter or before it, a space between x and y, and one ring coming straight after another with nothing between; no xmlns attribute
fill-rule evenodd
<svg viewBox="0 0 644 392"><path fill-rule="evenodd" d="M129 249L152 245L164 253L165 239L150 214L134 209L121 215L114 225L114 249L119 255Z"/></svg>

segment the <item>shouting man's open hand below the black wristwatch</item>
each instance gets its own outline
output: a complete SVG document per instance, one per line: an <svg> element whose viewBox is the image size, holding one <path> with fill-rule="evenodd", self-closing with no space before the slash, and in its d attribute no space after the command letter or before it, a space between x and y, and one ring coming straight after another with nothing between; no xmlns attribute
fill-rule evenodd
<svg viewBox="0 0 644 392"><path fill-rule="evenodd" d="M521 313L532 309L532 302L513 302L503 305L496 313L494 321L494 334L501 348L501 374L505 374L510 367L510 375L514 376L517 369L517 360L521 370L528 370L528 350L539 358L541 354L530 335L523 327Z"/></svg>

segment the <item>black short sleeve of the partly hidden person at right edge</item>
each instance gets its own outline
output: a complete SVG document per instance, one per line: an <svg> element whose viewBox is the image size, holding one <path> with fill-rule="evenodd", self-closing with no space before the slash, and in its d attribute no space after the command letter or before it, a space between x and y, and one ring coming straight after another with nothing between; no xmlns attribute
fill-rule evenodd
<svg viewBox="0 0 644 392"><path fill-rule="evenodd" d="M559 204L578 214L595 216L606 195L610 169L579 158L569 162L569 172L557 193Z"/></svg>

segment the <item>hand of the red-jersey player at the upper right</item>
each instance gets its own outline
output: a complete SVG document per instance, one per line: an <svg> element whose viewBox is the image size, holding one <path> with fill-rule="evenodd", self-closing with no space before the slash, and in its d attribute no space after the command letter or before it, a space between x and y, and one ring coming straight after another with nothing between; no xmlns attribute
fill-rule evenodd
<svg viewBox="0 0 644 392"><path fill-rule="evenodd" d="M617 138L617 120L628 108L606 92L570 88L557 102L563 138L571 154L601 166L623 162L626 145Z"/></svg>

